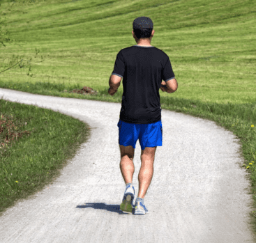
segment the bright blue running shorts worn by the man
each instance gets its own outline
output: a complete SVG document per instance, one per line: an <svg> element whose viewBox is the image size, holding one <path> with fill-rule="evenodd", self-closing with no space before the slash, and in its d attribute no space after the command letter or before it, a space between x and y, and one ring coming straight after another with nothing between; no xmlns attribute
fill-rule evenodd
<svg viewBox="0 0 256 243"><path fill-rule="evenodd" d="M144 150L146 147L162 146L163 127L162 121L150 124L125 123L119 120L119 144L123 146L133 146L140 141L140 147Z"/></svg>

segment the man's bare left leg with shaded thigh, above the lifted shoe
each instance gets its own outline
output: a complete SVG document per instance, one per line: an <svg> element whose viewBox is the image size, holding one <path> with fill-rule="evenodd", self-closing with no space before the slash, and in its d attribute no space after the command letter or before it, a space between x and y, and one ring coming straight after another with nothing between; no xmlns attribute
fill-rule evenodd
<svg viewBox="0 0 256 243"><path fill-rule="evenodd" d="M121 153L121 161L120 161L120 169L123 175L124 182L133 183L133 173L134 173L134 164L133 164L133 157L134 157L134 148L133 146L122 146L120 147Z"/></svg>

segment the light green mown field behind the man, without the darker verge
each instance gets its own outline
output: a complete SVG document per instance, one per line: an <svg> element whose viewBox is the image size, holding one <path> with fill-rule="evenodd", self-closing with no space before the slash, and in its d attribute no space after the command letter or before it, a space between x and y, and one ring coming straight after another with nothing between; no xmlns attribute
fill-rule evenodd
<svg viewBox="0 0 256 243"><path fill-rule="evenodd" d="M172 1L159 5L161 2L147 1L147 8L144 1L14 4L13 12L3 10L16 45L1 49L2 69L13 61L13 55L32 58L29 74L33 76L27 75L28 68L16 65L0 74L1 81L9 82L11 75L15 83L107 88L117 52L136 44L131 34L133 19L148 15L156 31L151 44L170 56L179 81L173 97L254 102L253 1Z"/></svg>

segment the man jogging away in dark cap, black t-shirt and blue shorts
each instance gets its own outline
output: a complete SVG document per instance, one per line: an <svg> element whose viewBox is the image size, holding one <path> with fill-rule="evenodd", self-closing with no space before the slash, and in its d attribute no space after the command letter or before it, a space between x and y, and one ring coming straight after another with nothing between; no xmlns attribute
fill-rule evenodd
<svg viewBox="0 0 256 243"><path fill-rule="evenodd" d="M126 191L120 209L133 212L134 150L137 139L142 148L139 193L135 201L135 214L148 212L144 196L153 177L153 162L157 146L162 146L163 127L159 88L173 93L178 88L170 59L165 52L151 46L155 31L149 17L138 17L133 22L133 38L137 45L121 49L116 56L110 77L110 95L114 95L123 78L123 97L120 111L119 147L120 169ZM165 80L165 81L162 81Z"/></svg>

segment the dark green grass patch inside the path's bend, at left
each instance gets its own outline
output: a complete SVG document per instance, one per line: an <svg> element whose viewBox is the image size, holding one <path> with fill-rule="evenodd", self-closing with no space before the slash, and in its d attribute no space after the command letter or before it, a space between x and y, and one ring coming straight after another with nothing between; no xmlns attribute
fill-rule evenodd
<svg viewBox="0 0 256 243"><path fill-rule="evenodd" d="M0 100L0 111L1 127L12 128L0 137L0 212L4 212L52 182L87 140L89 127L50 109L6 100ZM11 139L13 134L20 134L17 141Z"/></svg>

